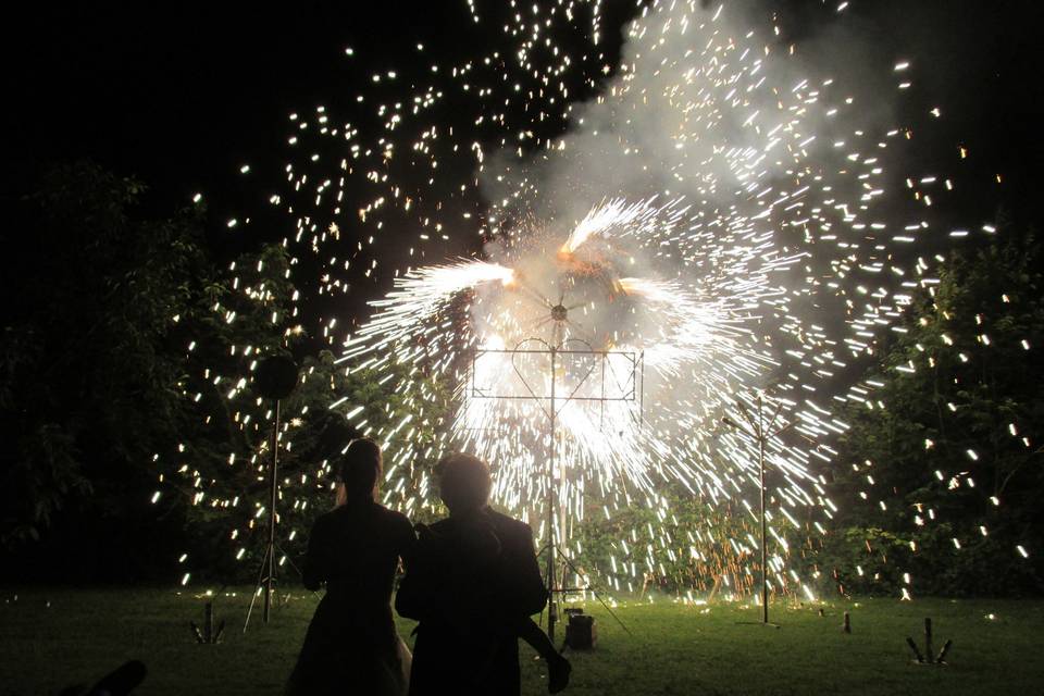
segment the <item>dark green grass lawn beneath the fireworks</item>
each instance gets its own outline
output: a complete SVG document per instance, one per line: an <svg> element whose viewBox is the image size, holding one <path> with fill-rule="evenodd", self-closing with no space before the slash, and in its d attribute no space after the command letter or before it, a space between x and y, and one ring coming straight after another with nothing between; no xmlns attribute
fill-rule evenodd
<svg viewBox="0 0 1044 696"><path fill-rule="evenodd" d="M204 600L188 592L7 588L0 596L0 696L57 693L129 658L149 668L141 695L277 694L318 601L293 591L269 625L256 612L244 634L249 597L219 597L224 641L198 645L188 622L202 622ZM597 602L585 608L597 618L599 642L569 655L568 694L1044 693L1044 601L776 604L775 630L737 623L758 618L744 605L632 599L617 609L630 635ZM846 610L850 635L841 631ZM933 619L936 649L954 641L947 667L911 663L905 638L922 642L924 617ZM412 625L400 622L403 636ZM525 645L522 656L522 693L546 693L543 666Z"/></svg>

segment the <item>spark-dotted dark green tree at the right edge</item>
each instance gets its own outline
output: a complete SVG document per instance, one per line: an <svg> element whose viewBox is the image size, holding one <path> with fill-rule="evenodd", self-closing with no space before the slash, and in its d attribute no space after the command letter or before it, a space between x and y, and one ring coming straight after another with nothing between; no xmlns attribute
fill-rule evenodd
<svg viewBox="0 0 1044 696"><path fill-rule="evenodd" d="M843 415L844 508L824 559L846 591L1044 586L1041 261L1014 231L952 254L867 375L877 388Z"/></svg>

